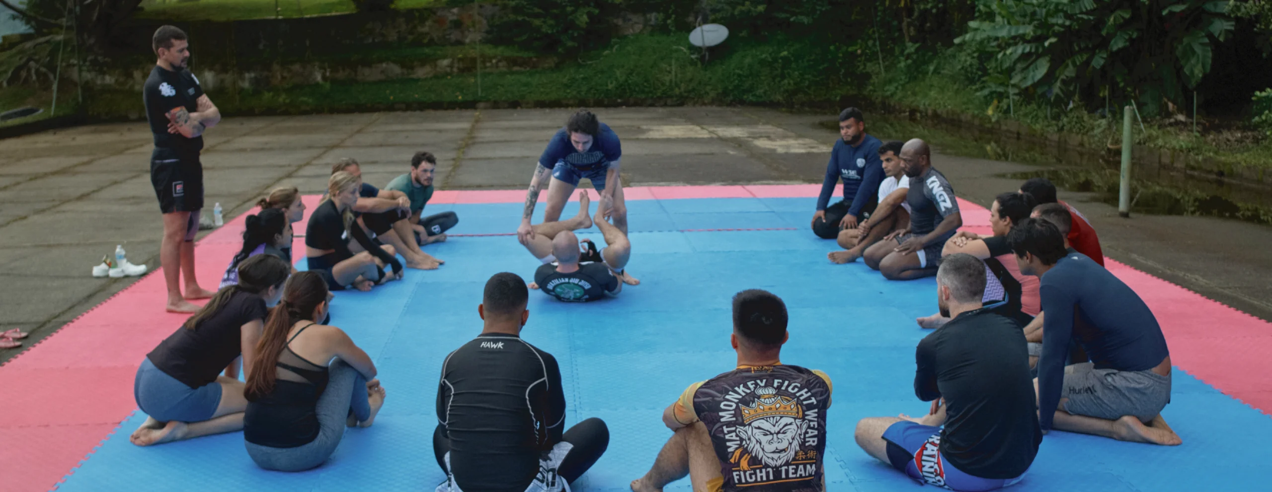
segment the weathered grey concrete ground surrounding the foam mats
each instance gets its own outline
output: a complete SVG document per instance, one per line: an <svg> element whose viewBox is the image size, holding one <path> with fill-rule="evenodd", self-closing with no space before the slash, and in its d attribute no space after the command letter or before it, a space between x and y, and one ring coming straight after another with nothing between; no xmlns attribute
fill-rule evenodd
<svg viewBox="0 0 1272 492"><path fill-rule="evenodd" d="M819 183L838 137L817 125L831 113L711 107L597 113L623 140L626 186ZM482 109L225 118L206 136L205 212L220 202L226 217L242 214L282 184L321 193L329 165L345 156L361 161L368 183L383 186L410 169L417 150L438 156L439 189L524 188L547 139L569 114ZM150 150L145 123L0 141L0 331L31 331L20 350L134 281L89 275L116 244L125 244L131 262L158 268L163 228ZM959 196L986 206L1019 186L997 174L1034 169L943 154L934 164ZM1272 228L1212 217L1119 219L1114 207L1081 193L1061 192L1061 198L1090 217L1107 256L1272 320ZM509 230L518 219L509 217ZM218 280L201 282L214 287ZM163 301L137 309L162 309ZM3 351L0 361L17 353Z"/></svg>

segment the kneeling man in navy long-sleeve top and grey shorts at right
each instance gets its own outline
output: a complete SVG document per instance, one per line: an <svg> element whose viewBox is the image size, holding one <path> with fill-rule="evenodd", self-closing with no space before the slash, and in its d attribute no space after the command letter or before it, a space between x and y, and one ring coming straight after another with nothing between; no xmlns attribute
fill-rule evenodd
<svg viewBox="0 0 1272 492"><path fill-rule="evenodd" d="M1065 236L1046 220L1023 220L1007 244L1020 272L1039 278L1047 313L1034 380L1043 431L1180 444L1161 418L1170 402L1170 351L1144 300L1090 258L1065 250ZM1090 362L1065 366L1071 339Z"/></svg>

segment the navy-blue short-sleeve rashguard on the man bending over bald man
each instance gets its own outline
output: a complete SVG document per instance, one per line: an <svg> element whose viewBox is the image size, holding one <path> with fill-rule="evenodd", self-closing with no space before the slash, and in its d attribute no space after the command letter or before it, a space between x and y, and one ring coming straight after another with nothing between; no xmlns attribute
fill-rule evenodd
<svg viewBox="0 0 1272 492"><path fill-rule="evenodd" d="M605 188L605 172L609 163L623 155L618 135L609 126L600 123L600 130L591 137L591 147L586 153L575 150L570 144L570 132L557 130L548 141L547 149L539 156L539 165L552 170L552 177L571 186L579 186L580 178L588 178L597 191Z"/></svg>

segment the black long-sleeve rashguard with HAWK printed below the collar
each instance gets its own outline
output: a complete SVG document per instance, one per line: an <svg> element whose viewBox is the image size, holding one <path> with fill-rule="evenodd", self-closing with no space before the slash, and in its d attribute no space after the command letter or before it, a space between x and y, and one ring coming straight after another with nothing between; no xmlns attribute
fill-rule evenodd
<svg viewBox="0 0 1272 492"><path fill-rule="evenodd" d="M446 356L438 422L459 488L525 491L539 472L539 454L561 442L561 369L515 334L482 334Z"/></svg>

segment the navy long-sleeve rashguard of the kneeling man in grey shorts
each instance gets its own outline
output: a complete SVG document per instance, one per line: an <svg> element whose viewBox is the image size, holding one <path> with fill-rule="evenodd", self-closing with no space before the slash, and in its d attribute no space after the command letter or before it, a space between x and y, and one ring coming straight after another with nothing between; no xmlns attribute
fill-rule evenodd
<svg viewBox="0 0 1272 492"><path fill-rule="evenodd" d="M1068 253L1042 276L1042 357L1038 360L1039 425L1051 428L1060 403L1070 339L1095 369L1145 371L1170 352L1158 318L1130 286L1090 258Z"/></svg>

